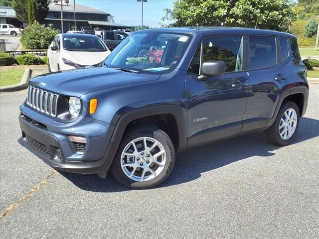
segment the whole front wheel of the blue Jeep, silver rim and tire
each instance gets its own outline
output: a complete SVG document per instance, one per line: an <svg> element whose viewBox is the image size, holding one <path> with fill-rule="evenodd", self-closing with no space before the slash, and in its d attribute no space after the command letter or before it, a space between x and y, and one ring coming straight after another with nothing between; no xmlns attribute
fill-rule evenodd
<svg viewBox="0 0 319 239"><path fill-rule="evenodd" d="M165 181L175 163L169 136L155 126L126 133L111 166L113 176L123 186L147 189Z"/></svg>

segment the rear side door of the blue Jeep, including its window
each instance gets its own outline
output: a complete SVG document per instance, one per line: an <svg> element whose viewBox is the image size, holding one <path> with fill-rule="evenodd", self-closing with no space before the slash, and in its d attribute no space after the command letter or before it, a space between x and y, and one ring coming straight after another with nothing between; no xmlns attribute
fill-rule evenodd
<svg viewBox="0 0 319 239"><path fill-rule="evenodd" d="M286 38L249 35L248 42L249 87L243 131L263 127L273 117L279 95L289 82L289 66L281 61L281 55L283 60L288 58Z"/></svg>

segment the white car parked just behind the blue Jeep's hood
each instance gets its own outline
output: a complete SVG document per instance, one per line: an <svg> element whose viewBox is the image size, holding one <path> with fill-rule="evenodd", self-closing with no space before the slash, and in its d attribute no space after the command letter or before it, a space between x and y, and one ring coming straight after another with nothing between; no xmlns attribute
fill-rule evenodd
<svg viewBox="0 0 319 239"><path fill-rule="evenodd" d="M104 61L110 53L95 35L58 34L48 48L48 68L55 72L95 65Z"/></svg>

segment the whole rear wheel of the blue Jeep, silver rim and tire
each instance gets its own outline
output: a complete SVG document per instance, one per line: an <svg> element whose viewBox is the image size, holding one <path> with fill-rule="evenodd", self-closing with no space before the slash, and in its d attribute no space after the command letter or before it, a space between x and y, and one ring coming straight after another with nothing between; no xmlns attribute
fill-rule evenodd
<svg viewBox="0 0 319 239"><path fill-rule="evenodd" d="M265 131L265 135L274 144L287 145L297 134L299 120L298 106L294 102L287 102L280 108L274 124Z"/></svg>

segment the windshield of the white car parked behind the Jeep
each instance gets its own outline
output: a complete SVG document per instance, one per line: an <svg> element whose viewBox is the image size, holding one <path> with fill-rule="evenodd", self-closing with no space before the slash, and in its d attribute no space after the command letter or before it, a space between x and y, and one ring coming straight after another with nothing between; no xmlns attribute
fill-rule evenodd
<svg viewBox="0 0 319 239"><path fill-rule="evenodd" d="M100 38L83 34L63 37L63 48L67 51L107 51Z"/></svg>

